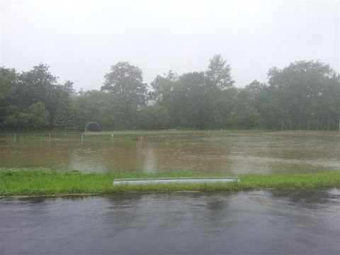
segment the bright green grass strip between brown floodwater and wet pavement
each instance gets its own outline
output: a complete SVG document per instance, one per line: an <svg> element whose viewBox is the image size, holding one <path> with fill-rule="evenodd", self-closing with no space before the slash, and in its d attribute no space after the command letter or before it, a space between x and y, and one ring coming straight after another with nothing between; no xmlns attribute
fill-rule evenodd
<svg viewBox="0 0 340 255"><path fill-rule="evenodd" d="M84 173L44 169L0 169L0 196L62 196L123 192L246 191L266 188L340 188L340 172L242 174L239 183L171 183L113 186L113 179L222 176L210 173ZM230 176L228 174L228 176Z"/></svg>

